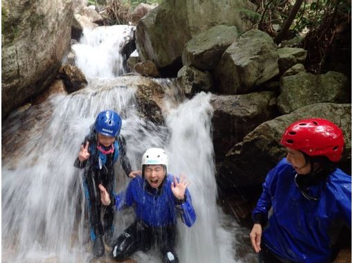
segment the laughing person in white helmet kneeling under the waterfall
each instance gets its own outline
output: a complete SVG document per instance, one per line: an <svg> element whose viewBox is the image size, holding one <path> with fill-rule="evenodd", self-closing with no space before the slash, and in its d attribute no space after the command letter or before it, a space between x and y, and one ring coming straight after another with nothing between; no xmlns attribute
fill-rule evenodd
<svg viewBox="0 0 353 263"><path fill-rule="evenodd" d="M179 262L175 253L177 216L186 226L196 221L188 183L167 174L168 156L160 148L147 149L142 158L143 176L136 176L127 190L114 197L99 185L101 201L105 206L114 203L117 209L134 206L136 219L114 242L112 255L124 261L135 251L148 251L159 246L163 263Z"/></svg>

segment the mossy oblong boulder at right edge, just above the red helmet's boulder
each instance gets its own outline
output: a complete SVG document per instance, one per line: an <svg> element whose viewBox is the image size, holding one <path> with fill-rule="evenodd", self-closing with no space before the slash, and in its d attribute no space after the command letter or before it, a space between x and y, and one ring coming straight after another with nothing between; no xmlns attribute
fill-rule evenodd
<svg viewBox="0 0 353 263"><path fill-rule="evenodd" d="M350 101L348 78L334 71L323 75L300 72L281 78L280 90L277 105L282 114L289 114L300 107L320 102Z"/></svg>

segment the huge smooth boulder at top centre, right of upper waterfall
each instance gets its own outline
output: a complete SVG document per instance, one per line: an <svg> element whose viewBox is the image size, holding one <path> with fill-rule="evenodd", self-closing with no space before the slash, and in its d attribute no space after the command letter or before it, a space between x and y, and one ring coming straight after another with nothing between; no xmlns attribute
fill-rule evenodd
<svg viewBox="0 0 353 263"><path fill-rule="evenodd" d="M208 28L224 24L244 32L250 26L242 18L244 9L253 10L253 4L248 0L163 1L137 24L138 54L159 68L180 62L185 43Z"/></svg>

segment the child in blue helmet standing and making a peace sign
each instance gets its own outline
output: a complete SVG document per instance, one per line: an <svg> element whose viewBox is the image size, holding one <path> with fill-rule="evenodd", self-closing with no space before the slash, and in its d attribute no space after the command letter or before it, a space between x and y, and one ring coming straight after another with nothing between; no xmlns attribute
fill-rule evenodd
<svg viewBox="0 0 353 263"><path fill-rule="evenodd" d="M103 225L100 220L99 184L107 188L109 194L114 193L114 163L120 157L123 170L127 176L134 177L140 171L132 171L129 159L126 156L126 144L120 135L121 118L111 110L98 114L89 134L84 138L78 158L74 166L84 168L84 189L89 201L89 221L91 224L91 239L93 240L93 254L100 257L105 253L102 240L103 235L109 239L113 234L114 221L113 206L107 206L103 216Z"/></svg>

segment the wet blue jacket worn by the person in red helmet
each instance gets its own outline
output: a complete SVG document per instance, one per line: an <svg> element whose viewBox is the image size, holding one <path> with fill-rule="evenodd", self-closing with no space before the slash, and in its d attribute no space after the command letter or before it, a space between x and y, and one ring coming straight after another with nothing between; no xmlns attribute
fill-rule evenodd
<svg viewBox="0 0 353 263"><path fill-rule="evenodd" d="M296 186L296 171L285 158L267 174L253 211L269 215L262 242L279 257L293 262L329 262L329 229L334 222L352 222L352 178L336 169L321 185L309 190L318 201L306 199ZM272 207L271 212L269 212Z"/></svg>

